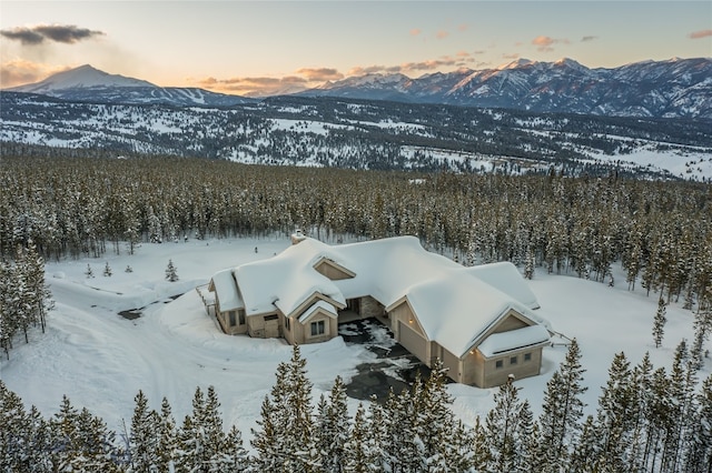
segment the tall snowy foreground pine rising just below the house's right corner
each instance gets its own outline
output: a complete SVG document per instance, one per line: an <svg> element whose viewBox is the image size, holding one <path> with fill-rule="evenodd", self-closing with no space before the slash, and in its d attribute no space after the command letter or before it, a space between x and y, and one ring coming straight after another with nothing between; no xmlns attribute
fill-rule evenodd
<svg viewBox="0 0 712 473"><path fill-rule="evenodd" d="M581 396L587 390L582 384L585 371L581 366L578 342L573 339L566 358L546 383L540 417L541 447L546 457L544 471L566 469L570 449L576 443L581 430L584 407Z"/></svg>

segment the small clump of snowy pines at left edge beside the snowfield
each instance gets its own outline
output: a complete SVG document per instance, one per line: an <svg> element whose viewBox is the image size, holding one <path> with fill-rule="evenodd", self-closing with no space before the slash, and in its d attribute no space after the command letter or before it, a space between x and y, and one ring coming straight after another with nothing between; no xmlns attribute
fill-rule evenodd
<svg viewBox="0 0 712 473"><path fill-rule="evenodd" d="M52 308L44 260L30 240L27 248L16 248L11 260L0 261L0 349L8 359L16 336L23 334L27 343L31 326L44 332L44 316Z"/></svg>

